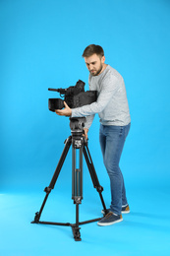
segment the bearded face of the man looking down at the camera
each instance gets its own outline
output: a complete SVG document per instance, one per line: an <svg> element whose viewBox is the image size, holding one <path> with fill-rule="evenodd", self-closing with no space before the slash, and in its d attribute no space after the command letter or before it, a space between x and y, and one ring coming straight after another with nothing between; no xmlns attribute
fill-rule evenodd
<svg viewBox="0 0 170 256"><path fill-rule="evenodd" d="M98 76L103 70L103 64L105 57L99 57L93 54L89 57L85 57L85 64L92 76Z"/></svg>

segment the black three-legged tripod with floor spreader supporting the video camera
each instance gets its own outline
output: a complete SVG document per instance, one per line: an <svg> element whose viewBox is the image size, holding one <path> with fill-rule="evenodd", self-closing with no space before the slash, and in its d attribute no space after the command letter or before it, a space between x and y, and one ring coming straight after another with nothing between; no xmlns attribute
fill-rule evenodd
<svg viewBox="0 0 170 256"><path fill-rule="evenodd" d="M65 141L65 148L63 150L63 153L61 155L61 158L58 162L58 165L55 169L55 172L53 174L53 177L51 179L51 182L48 187L45 187L44 192L46 193L45 198L42 202L41 208L39 212L35 213L34 221L31 222L31 224L55 224L55 225L68 225L72 227L73 235L76 241L81 241L81 232L80 232L80 224L89 224L92 222L97 222L101 220L101 218L93 219L85 222L79 222L79 206L82 204L83 199L83 153L85 156L85 161L89 170L89 174L93 183L94 188L96 188L102 206L104 213L107 213L106 206L102 197L102 191L103 187L100 186L94 165L92 163L89 150L87 147L87 140L85 140L84 134L84 126L85 126L85 117L80 118L70 118L70 128L72 132L72 136L70 136ZM39 221L43 208L45 206L45 203L47 201L47 198L51 192L51 190L54 188L55 183L57 181L57 178L59 176L59 173L61 171L61 168L63 166L63 163L67 157L67 154L69 152L69 149L72 145L72 199L74 200L74 204L76 204L76 224L70 224L70 223L51 223L51 222L41 222ZM79 166L77 166L77 155L79 155ZM104 215L105 215L104 214Z"/></svg>

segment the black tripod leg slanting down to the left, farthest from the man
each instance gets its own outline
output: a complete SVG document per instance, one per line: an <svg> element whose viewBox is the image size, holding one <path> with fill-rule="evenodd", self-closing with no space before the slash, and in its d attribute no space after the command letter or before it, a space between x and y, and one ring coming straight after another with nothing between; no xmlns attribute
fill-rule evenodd
<svg viewBox="0 0 170 256"><path fill-rule="evenodd" d="M31 224L34 224L34 223L35 223L35 224L38 224L38 223L39 223L39 219L40 219L40 216L41 216L41 214L42 214L42 211L43 211L43 208L44 208L44 206L45 206L45 203L46 203L46 201L47 201L47 198L48 198L48 196L49 196L51 190L52 190L52 189L54 188L54 186L55 186L55 183L56 183L56 181L57 181L57 178L58 178L58 176L59 176L59 173L60 173L60 170L61 170L61 168L62 168L62 166L63 166L63 163L64 163L64 161L65 161L65 159L66 159L66 157L67 157L67 154L68 154L68 152L69 152L69 149L70 149L71 144L72 144L72 136L70 136L70 137L66 140L66 142L65 142L65 148L64 148L63 153L62 153L62 155L61 155L61 158L60 158L60 160L59 160L59 162L58 162L58 164L57 164L57 167L56 167L56 169L55 169L55 172L54 172L54 174L53 174L53 177L52 177L52 179L51 179L51 182L50 182L49 186L44 189L44 192L46 192L46 195L45 195L45 198L44 198L43 203L42 203L42 205L41 205L41 208L40 208L39 212L35 213L34 221L31 222Z"/></svg>

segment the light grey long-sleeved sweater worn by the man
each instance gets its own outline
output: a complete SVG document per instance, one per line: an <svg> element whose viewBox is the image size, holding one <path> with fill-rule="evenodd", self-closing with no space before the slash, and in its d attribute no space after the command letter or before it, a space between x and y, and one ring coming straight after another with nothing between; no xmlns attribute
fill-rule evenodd
<svg viewBox="0 0 170 256"><path fill-rule="evenodd" d="M131 122L128 99L123 77L111 66L98 76L89 74L89 90L97 91L97 101L72 108L72 117L86 116L85 128L89 128L95 113L103 125L125 126Z"/></svg>

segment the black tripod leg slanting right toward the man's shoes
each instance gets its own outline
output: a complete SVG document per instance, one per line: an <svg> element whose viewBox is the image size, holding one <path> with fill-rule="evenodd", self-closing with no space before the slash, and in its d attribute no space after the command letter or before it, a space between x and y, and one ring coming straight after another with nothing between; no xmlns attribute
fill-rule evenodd
<svg viewBox="0 0 170 256"><path fill-rule="evenodd" d="M97 174L96 174L96 171L95 171L95 168L94 168L94 165L93 165L93 162L92 162L92 159L91 159L88 147L87 147L87 142L84 145L83 151L84 151L86 164L87 164L87 167L88 167L88 170L89 170L89 174L90 174L93 186L94 186L94 188L96 188L97 192L99 193L99 197L100 197L100 200L101 200L101 203L102 203L102 206L103 206L103 210L106 213L107 212L106 211L106 206L105 206L102 194L101 194L102 191L103 191L103 187L99 184Z"/></svg>

